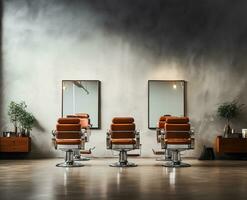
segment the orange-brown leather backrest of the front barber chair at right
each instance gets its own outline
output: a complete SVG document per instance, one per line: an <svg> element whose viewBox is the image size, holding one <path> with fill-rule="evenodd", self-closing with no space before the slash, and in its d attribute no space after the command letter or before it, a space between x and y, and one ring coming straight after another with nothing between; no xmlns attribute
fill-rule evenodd
<svg viewBox="0 0 247 200"><path fill-rule="evenodd" d="M188 117L167 117L165 123L165 137L190 138L190 124Z"/></svg>

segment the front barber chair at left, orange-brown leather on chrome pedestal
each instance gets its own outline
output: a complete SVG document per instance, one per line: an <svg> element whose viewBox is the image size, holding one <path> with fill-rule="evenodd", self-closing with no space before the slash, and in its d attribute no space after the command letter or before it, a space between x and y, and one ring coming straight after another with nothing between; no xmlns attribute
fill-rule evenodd
<svg viewBox="0 0 247 200"><path fill-rule="evenodd" d="M79 118L59 118L56 131L53 132L55 149L65 151L65 161L57 167L81 167L75 162L74 152L84 149L85 137L81 131Z"/></svg>

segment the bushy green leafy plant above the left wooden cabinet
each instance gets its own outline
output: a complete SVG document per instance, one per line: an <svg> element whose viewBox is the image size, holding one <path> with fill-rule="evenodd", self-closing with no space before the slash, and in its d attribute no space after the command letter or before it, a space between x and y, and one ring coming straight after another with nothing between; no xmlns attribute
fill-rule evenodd
<svg viewBox="0 0 247 200"><path fill-rule="evenodd" d="M34 122L36 121L35 117L32 113L27 112L26 108L27 105L24 101L20 103L11 101L9 104L8 115L15 127L15 133L17 133L18 128L21 132L29 132L33 128Z"/></svg>

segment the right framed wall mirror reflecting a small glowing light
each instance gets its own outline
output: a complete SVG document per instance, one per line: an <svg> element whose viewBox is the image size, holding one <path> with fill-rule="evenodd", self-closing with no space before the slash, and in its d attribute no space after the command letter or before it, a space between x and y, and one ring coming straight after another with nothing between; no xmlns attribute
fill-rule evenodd
<svg viewBox="0 0 247 200"><path fill-rule="evenodd" d="M185 86L183 80L148 81L148 128L155 129L160 116L185 116Z"/></svg>

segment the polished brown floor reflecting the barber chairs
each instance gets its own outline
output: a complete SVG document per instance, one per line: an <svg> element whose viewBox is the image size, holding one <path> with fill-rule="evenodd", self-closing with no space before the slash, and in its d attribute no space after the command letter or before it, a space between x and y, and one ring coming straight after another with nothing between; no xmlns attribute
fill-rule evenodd
<svg viewBox="0 0 247 200"><path fill-rule="evenodd" d="M247 199L247 161L186 160L190 168L130 159L135 168L112 168L116 159L93 159L81 168L57 168L61 159L0 160L0 199Z"/></svg>

